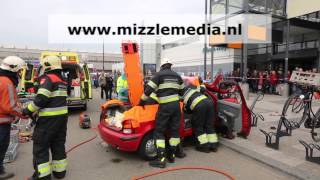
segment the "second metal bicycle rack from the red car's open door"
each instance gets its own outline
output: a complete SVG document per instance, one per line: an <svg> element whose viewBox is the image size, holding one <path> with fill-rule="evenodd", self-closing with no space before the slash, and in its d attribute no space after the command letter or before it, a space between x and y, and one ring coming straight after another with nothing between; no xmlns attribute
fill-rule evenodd
<svg viewBox="0 0 320 180"><path fill-rule="evenodd" d="M284 136L291 136L292 130L296 129L295 123L293 121L289 121L285 115L289 108L291 97L287 99L285 105L282 110L282 115L280 117L276 132L266 132L263 129L259 129L266 136L266 146L272 149L279 149L280 138ZM275 138L272 138L275 137ZM273 141L273 139L275 139Z"/></svg>

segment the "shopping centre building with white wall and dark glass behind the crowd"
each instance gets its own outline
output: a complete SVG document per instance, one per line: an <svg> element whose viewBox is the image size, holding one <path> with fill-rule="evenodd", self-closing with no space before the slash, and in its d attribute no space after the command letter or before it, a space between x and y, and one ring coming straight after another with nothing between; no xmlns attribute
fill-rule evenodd
<svg viewBox="0 0 320 180"><path fill-rule="evenodd" d="M270 14L272 42L247 44L241 49L210 46L208 42L204 45L200 39L164 44L162 56L171 58L177 71L203 75L205 71L215 74L222 69L226 74L240 68L243 75L254 69L284 74L296 67L320 68L319 0L208 0L206 4L208 16Z"/></svg>

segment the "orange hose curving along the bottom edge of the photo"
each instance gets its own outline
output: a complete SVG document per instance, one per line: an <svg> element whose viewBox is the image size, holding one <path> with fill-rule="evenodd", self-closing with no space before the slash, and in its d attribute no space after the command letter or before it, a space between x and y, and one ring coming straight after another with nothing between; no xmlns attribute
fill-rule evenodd
<svg viewBox="0 0 320 180"><path fill-rule="evenodd" d="M230 174L228 174L228 173L226 173L226 172L224 172L222 170L214 169L214 168L211 168L211 167L193 167L193 166L168 168L168 169L164 169L164 170L160 170L160 171L151 172L151 173L148 173L148 174L145 174L145 175L142 175L142 176L133 177L132 180L140 180L140 179L144 179L144 178L147 178L147 177L156 176L156 175L159 175L159 174L164 174L164 173L173 172L173 171L181 171L181 170L210 171L210 172L215 172L215 173L218 173L218 174L222 174L223 176L227 177L230 180L235 180L235 178L232 175L230 175Z"/></svg>

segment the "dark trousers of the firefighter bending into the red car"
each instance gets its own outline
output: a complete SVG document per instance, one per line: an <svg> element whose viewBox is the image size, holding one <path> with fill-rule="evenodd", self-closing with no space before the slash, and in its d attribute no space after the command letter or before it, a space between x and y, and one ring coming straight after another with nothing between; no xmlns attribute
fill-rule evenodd
<svg viewBox="0 0 320 180"><path fill-rule="evenodd" d="M209 99L200 101L193 109L191 120L193 132L200 144L217 142L213 121L213 102Z"/></svg>

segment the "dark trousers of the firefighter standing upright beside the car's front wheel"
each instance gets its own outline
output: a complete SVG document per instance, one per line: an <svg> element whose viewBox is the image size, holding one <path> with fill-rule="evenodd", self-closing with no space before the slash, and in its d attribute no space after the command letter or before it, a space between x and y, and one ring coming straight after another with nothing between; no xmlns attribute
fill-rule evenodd
<svg viewBox="0 0 320 180"><path fill-rule="evenodd" d="M176 149L180 143L180 103L179 101L164 103L159 105L156 116L156 125L154 130L154 139L156 140L157 149L165 149L164 133L168 129L170 132L169 145Z"/></svg>

